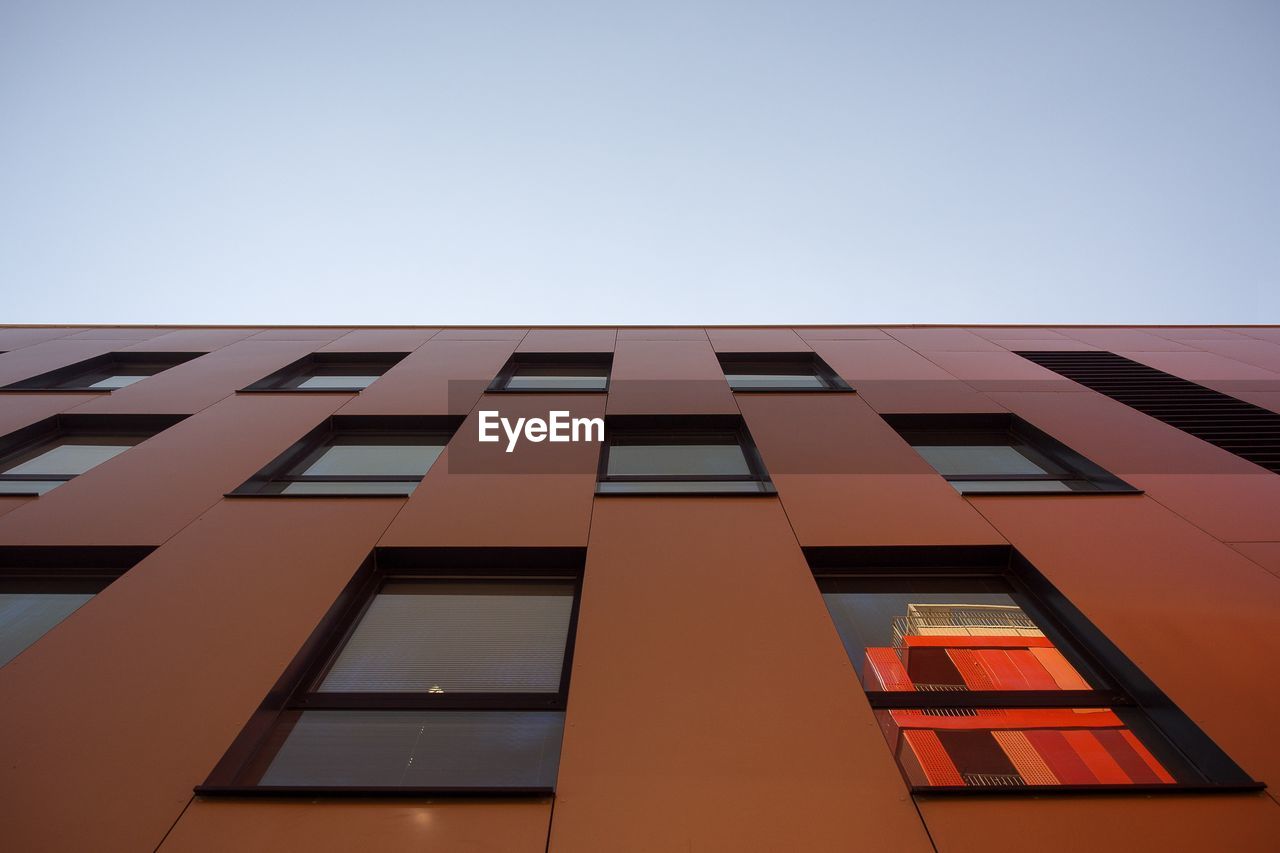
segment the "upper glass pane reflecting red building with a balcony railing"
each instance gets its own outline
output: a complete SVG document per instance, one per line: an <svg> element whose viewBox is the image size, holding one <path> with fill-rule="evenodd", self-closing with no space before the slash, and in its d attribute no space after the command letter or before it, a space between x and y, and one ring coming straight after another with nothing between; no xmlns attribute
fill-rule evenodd
<svg viewBox="0 0 1280 853"><path fill-rule="evenodd" d="M823 581L867 690L1089 690L1092 684L995 580Z"/></svg>

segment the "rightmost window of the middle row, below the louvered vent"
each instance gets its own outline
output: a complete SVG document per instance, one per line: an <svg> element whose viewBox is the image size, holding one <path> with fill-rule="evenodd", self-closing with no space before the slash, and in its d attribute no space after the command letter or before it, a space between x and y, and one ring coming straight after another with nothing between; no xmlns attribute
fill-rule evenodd
<svg viewBox="0 0 1280 853"><path fill-rule="evenodd" d="M886 415L884 420L961 494L1138 492L1015 415Z"/></svg>

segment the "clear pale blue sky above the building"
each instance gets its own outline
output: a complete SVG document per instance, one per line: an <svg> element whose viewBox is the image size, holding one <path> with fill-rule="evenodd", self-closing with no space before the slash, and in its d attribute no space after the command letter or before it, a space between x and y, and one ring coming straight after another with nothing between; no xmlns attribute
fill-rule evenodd
<svg viewBox="0 0 1280 853"><path fill-rule="evenodd" d="M0 0L0 321L1277 323L1275 0Z"/></svg>

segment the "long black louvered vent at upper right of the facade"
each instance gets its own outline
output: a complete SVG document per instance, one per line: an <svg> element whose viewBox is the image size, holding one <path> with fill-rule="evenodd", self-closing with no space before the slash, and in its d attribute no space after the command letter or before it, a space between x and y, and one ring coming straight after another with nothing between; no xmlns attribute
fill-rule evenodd
<svg viewBox="0 0 1280 853"><path fill-rule="evenodd" d="M1280 474L1280 414L1114 352L1018 355Z"/></svg>

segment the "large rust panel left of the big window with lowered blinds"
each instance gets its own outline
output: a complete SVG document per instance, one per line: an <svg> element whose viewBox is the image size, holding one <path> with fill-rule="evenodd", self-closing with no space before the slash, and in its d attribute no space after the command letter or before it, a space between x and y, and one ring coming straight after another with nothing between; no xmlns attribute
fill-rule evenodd
<svg viewBox="0 0 1280 853"><path fill-rule="evenodd" d="M224 501L6 666L6 849L155 849L398 506Z"/></svg>

